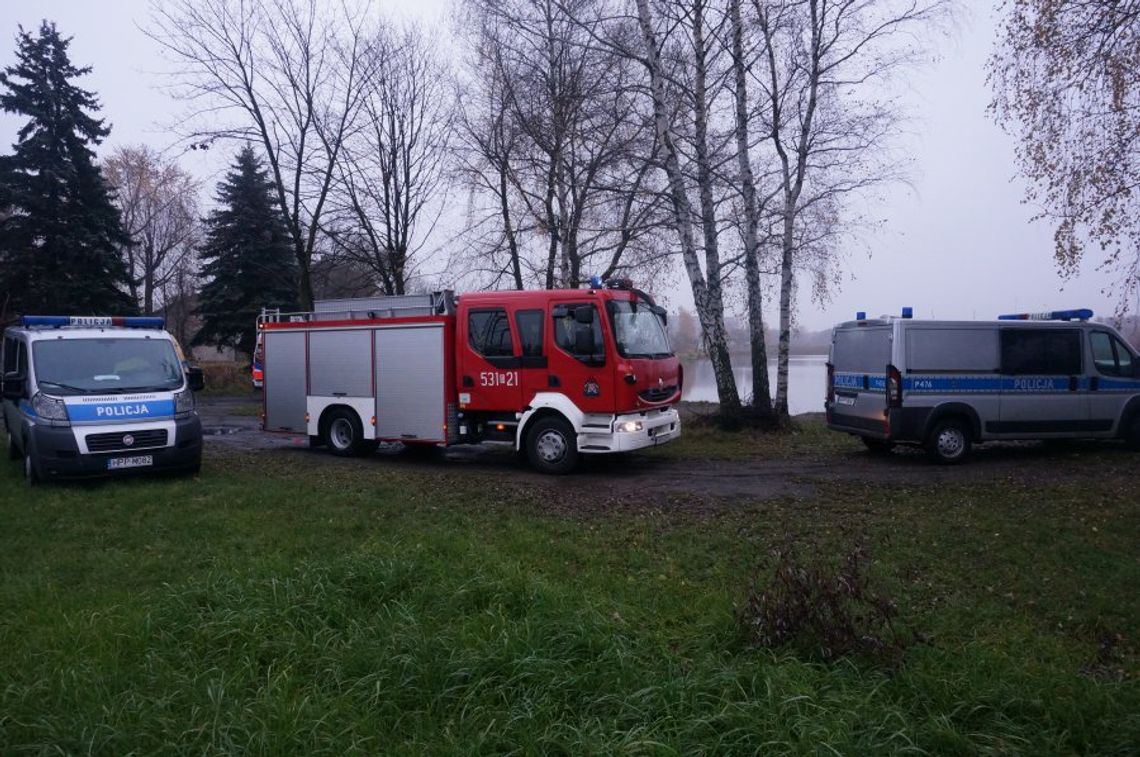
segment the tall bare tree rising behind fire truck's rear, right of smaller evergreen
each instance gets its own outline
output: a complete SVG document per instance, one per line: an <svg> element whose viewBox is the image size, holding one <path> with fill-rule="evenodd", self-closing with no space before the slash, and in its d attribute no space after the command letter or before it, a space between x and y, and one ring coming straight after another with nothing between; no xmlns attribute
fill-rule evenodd
<svg viewBox="0 0 1140 757"><path fill-rule="evenodd" d="M364 10L345 0L172 0L149 34L178 67L194 109L186 137L260 145L312 304L311 267L336 163L358 128L369 55Z"/></svg>

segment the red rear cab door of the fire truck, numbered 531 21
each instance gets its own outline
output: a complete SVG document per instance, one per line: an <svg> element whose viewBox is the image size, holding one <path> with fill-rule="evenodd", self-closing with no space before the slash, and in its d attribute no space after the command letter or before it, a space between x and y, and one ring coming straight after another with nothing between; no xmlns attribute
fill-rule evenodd
<svg viewBox="0 0 1140 757"><path fill-rule="evenodd" d="M465 410L521 409L522 360L506 308L462 308L459 333L459 406Z"/></svg>

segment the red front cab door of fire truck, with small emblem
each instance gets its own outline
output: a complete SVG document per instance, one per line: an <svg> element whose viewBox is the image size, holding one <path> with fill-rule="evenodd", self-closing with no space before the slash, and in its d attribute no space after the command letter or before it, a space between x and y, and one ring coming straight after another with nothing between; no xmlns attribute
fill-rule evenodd
<svg viewBox="0 0 1140 757"><path fill-rule="evenodd" d="M548 389L565 394L584 413L613 413L612 350L603 314L595 302L564 301L549 306Z"/></svg>

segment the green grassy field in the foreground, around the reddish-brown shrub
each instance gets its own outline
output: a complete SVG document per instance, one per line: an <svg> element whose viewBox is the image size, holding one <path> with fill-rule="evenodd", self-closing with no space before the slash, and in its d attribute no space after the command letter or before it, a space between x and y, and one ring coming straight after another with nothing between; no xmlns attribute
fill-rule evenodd
<svg viewBox="0 0 1140 757"><path fill-rule="evenodd" d="M823 438L699 432L654 454L853 454ZM27 489L0 466L0 752L1140 744L1123 450L612 512L577 512L592 494L564 479L207 451L194 479ZM865 544L927 641L893 664L749 646L735 608L788 538L821 561Z"/></svg>

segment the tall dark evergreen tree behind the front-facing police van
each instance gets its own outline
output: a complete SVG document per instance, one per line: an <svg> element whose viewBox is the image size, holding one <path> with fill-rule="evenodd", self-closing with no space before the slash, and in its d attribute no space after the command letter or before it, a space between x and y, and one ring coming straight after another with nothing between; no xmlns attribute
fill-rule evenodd
<svg viewBox="0 0 1140 757"><path fill-rule="evenodd" d="M72 83L91 68L72 65L55 24L38 36L21 27L16 43L0 108L28 121L0 156L0 310L131 312L119 254L128 239L91 149L111 128L91 115L95 95Z"/></svg>

